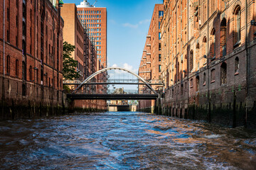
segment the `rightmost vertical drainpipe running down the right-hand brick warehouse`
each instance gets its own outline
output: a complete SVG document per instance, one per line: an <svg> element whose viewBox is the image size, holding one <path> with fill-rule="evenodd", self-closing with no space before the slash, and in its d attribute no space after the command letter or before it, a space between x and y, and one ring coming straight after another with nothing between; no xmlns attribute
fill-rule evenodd
<svg viewBox="0 0 256 170"><path fill-rule="evenodd" d="M247 13L248 13L248 9L247 9L247 0L245 0L245 50L246 50L246 103L245 103L245 128L247 127L247 97L248 97L248 85L249 85L249 65L250 65L250 61L249 61L249 54L248 54L248 33L247 33Z"/></svg>

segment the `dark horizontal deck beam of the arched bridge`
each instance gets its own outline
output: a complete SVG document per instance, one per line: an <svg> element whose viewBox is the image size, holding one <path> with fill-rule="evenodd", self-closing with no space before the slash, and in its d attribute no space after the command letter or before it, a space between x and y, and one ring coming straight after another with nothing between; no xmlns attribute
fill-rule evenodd
<svg viewBox="0 0 256 170"><path fill-rule="evenodd" d="M158 94L67 94L71 100L155 100Z"/></svg>

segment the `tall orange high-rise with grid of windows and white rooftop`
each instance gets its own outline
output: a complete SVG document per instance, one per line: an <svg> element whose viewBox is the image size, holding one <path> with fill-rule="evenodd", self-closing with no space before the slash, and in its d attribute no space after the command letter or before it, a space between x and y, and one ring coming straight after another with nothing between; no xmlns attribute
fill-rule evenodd
<svg viewBox="0 0 256 170"><path fill-rule="evenodd" d="M97 48L97 58L102 68L107 67L107 8L95 7L86 0L78 8L82 24L86 26Z"/></svg>

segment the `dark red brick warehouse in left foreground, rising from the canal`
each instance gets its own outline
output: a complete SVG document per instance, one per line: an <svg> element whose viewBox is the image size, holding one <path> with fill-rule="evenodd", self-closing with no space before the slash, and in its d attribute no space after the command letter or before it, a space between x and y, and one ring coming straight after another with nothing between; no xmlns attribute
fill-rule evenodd
<svg viewBox="0 0 256 170"><path fill-rule="evenodd" d="M62 111L63 19L51 1L0 0L1 119Z"/></svg>

